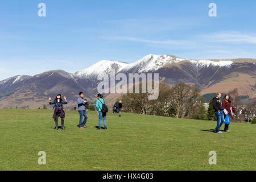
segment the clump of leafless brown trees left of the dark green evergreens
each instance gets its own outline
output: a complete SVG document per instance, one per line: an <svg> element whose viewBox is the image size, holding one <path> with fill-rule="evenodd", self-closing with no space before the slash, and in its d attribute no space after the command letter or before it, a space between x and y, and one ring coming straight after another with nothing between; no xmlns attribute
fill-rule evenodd
<svg viewBox="0 0 256 182"><path fill-rule="evenodd" d="M201 89L183 82L170 87L159 82L159 97L149 100L150 93L127 93L119 97L123 111L128 113L162 115L176 118L208 119Z"/></svg>

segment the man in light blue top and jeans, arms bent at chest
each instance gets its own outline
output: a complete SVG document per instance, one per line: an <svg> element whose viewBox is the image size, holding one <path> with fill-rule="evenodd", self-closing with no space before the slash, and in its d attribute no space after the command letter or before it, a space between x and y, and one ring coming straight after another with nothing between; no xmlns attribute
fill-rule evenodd
<svg viewBox="0 0 256 182"><path fill-rule="evenodd" d="M79 115L80 115L80 119L79 119L79 129L85 129L87 126L86 121L88 119L88 114L86 113L85 110L85 104L86 104L86 100L84 100L84 93L80 92L79 93L79 98L77 98L77 105L79 107ZM82 118L84 117L84 121L82 121Z"/></svg>

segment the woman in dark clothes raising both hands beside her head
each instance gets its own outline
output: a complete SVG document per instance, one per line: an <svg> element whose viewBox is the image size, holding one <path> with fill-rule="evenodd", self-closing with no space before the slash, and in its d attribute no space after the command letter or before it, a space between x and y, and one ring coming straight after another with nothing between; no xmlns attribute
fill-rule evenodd
<svg viewBox="0 0 256 182"><path fill-rule="evenodd" d="M66 96L64 96L64 100L61 98L61 94L58 94L54 101L51 101L51 97L49 97L49 104L54 104L54 113L52 118L55 121L55 130L58 129L58 119L61 118L61 129L65 130L64 128L64 118L65 118L65 111L63 110L63 104L68 104Z"/></svg>

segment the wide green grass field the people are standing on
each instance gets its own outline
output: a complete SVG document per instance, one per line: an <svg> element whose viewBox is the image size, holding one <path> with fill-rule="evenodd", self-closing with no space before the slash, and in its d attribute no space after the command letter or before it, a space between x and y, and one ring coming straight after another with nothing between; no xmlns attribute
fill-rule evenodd
<svg viewBox="0 0 256 182"><path fill-rule="evenodd" d="M52 113L0 110L0 170L256 170L250 123L216 134L213 121L108 113L108 130L96 130L97 112L89 111L88 128L80 130L78 111L70 110L66 130L54 130ZM39 151L46 165L38 164ZM217 152L216 165L209 151Z"/></svg>

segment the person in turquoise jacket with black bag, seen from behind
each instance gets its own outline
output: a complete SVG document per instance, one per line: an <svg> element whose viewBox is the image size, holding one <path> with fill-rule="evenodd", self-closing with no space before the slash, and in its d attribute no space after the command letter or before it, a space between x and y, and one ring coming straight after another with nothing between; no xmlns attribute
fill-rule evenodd
<svg viewBox="0 0 256 182"><path fill-rule="evenodd" d="M101 119L103 119L104 129L107 129L106 126L106 113L108 112L108 107L105 105L102 94L97 94L96 109L98 111L98 130L101 129Z"/></svg>

